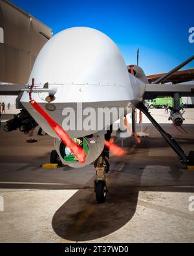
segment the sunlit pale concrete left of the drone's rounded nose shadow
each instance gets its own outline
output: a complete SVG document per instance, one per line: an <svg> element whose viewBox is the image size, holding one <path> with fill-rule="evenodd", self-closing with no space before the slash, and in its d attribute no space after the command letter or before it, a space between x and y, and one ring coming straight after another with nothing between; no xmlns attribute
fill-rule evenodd
<svg viewBox="0 0 194 256"><path fill-rule="evenodd" d="M76 191L0 190L0 242L64 242L52 230L52 216Z"/></svg>

